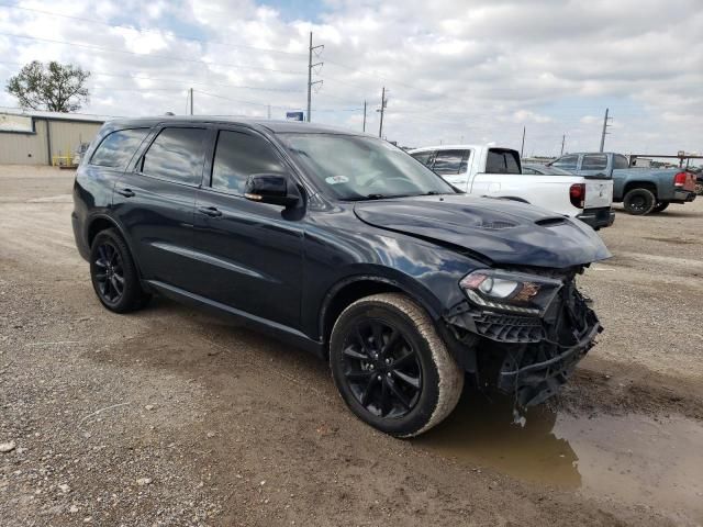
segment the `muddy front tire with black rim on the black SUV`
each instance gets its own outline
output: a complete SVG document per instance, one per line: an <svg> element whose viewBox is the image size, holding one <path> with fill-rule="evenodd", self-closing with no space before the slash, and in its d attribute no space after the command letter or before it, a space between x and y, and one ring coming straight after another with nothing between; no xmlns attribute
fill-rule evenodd
<svg viewBox="0 0 703 527"><path fill-rule="evenodd" d="M365 423L413 437L447 417L464 371L415 302L399 293L367 296L337 318L330 343L335 385Z"/></svg>

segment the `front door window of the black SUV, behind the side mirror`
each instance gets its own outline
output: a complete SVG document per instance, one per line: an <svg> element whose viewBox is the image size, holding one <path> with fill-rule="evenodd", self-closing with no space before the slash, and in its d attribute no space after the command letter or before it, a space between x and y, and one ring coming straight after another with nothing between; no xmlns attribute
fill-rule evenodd
<svg viewBox="0 0 703 527"><path fill-rule="evenodd" d="M212 164L213 189L244 193L253 173L284 173L274 147L264 138L242 132L220 131Z"/></svg>

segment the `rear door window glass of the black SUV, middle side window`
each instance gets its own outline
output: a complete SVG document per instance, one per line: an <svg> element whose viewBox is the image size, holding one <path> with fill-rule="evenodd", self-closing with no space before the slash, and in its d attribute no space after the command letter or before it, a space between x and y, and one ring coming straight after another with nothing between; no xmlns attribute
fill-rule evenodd
<svg viewBox="0 0 703 527"><path fill-rule="evenodd" d="M164 128L142 159L142 172L177 183L200 184L204 128Z"/></svg>

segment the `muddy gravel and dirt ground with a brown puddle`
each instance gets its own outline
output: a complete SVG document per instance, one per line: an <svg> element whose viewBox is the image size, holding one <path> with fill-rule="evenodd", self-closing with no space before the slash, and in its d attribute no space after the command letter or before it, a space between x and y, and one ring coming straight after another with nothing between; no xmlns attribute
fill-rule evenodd
<svg viewBox="0 0 703 527"><path fill-rule="evenodd" d="M402 441L304 351L102 309L72 176L0 167L0 525L703 524L703 200L601 232L579 284L606 330L557 401L521 427L467 392Z"/></svg>

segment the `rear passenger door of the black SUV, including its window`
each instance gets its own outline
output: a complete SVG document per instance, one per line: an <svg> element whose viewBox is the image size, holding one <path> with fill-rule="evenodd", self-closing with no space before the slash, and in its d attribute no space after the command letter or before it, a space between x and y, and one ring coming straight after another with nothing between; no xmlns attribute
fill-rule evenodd
<svg viewBox="0 0 703 527"><path fill-rule="evenodd" d="M157 127L115 186L114 214L145 280L189 290L196 191L209 134L202 126Z"/></svg>

